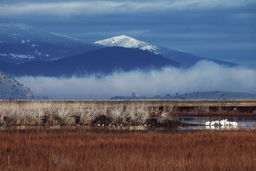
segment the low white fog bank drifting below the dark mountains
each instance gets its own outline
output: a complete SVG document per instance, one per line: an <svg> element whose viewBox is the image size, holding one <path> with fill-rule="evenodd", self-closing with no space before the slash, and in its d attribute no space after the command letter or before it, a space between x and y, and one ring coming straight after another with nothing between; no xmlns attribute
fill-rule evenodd
<svg viewBox="0 0 256 171"><path fill-rule="evenodd" d="M49 99L110 99L113 96L175 95L201 91L256 93L256 71L200 61L188 69L165 67L160 71L114 72L101 78L15 78L37 96Z"/></svg>

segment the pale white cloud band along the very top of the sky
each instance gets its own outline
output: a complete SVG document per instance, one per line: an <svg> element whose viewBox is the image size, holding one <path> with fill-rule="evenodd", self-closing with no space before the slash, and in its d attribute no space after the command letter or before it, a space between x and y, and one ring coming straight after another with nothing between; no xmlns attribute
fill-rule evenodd
<svg viewBox="0 0 256 171"><path fill-rule="evenodd" d="M174 0L174 1L55 1L44 3L15 3L3 4L0 14L28 14L42 13L44 15L80 15L80 14L112 14L132 11L163 11L163 10L184 10L191 7L197 9L212 8L233 8L246 6L254 1L241 0Z"/></svg>

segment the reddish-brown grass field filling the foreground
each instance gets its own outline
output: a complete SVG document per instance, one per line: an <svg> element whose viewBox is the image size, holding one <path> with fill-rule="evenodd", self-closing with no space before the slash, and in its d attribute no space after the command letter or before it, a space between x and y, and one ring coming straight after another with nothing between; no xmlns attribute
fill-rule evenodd
<svg viewBox="0 0 256 171"><path fill-rule="evenodd" d="M256 131L0 130L0 170L255 170Z"/></svg>

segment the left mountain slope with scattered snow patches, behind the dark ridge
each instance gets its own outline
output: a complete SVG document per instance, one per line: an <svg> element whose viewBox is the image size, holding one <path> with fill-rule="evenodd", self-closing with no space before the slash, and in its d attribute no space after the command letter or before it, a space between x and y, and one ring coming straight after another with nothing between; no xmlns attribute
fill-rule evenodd
<svg viewBox="0 0 256 171"><path fill-rule="evenodd" d="M102 48L39 28L0 24L0 60L10 63L50 61Z"/></svg>

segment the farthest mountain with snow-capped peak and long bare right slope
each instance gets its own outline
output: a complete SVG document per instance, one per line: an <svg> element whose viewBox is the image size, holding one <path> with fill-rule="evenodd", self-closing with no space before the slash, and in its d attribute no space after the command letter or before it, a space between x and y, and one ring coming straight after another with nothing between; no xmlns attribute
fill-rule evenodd
<svg viewBox="0 0 256 171"><path fill-rule="evenodd" d="M220 61L220 60L215 60L215 59L209 59L209 58L202 58L202 57L194 56L194 55L187 54L184 52L179 52L176 50L164 48L161 46L152 45L152 44L146 43L144 41L140 41L140 40L137 40L132 37L125 36L125 35L96 41L96 42L94 42L94 44L99 44L99 45L108 46L108 47L120 46L120 47L125 47L125 48L140 48L141 50L148 50L150 52L154 52L157 55L162 55L166 58L170 58L170 59L177 61L179 63L182 63L183 65L188 66L188 67L194 65L196 62L198 62L200 60L210 60L210 61L214 61L219 64L228 65L228 66L236 66L237 65L235 63L230 63L230 62L225 62L225 61Z"/></svg>

